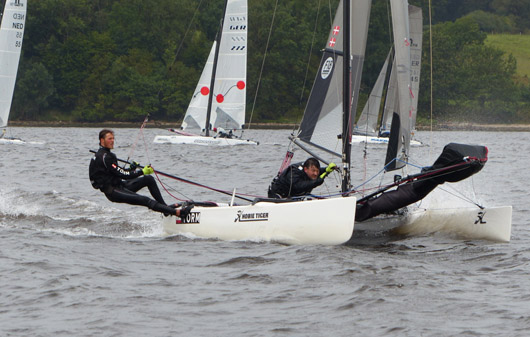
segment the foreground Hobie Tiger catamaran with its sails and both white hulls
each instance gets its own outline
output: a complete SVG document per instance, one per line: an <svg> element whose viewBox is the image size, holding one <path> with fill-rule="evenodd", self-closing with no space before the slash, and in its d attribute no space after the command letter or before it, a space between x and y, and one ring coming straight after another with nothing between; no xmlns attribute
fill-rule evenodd
<svg viewBox="0 0 530 337"><path fill-rule="evenodd" d="M395 46L399 109L392 114L385 171L406 166L412 126L408 4L405 0L390 3L394 41L401 43ZM246 199L247 205L234 204L235 197L242 198L234 191L230 204L196 203L185 219L165 217L166 232L221 240L329 245L351 241L358 230L399 230L427 222L436 231L449 228L451 234L466 238L510 240L511 206L403 211L438 185L479 172L487 161L484 146L448 144L434 164L419 173L394 176L392 182L376 186L367 195L352 188L350 176L361 173L352 171L350 164L352 111L358 103L370 8L371 0L341 0L302 123L290 137L290 146L324 163L341 161L340 191L303 200Z"/></svg>

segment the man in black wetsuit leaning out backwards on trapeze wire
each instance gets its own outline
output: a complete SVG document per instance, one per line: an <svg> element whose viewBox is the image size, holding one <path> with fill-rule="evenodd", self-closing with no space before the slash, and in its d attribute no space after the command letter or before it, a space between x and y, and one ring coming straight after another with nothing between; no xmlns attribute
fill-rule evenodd
<svg viewBox="0 0 530 337"><path fill-rule="evenodd" d="M154 172L150 165L141 170L136 167L124 169L118 166L116 155L110 151L114 148L112 130L101 130L99 145L99 151L90 161L89 176L92 186L105 193L107 199L112 202L146 206L153 211L180 218L190 213L192 206L176 209L175 206L166 205L155 179L149 175ZM136 193L146 186L155 200Z"/></svg>

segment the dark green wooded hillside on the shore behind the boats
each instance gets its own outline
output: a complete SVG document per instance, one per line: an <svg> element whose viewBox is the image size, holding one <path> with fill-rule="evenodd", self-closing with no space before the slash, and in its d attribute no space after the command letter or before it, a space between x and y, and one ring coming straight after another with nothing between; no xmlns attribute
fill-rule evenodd
<svg viewBox="0 0 530 337"><path fill-rule="evenodd" d="M424 17L419 121L430 118L432 32L436 120L529 122L528 79L517 76L513 57L484 41L491 32L529 33L530 4L436 1L431 30L429 2L409 0L423 8ZM179 122L223 5L224 0L30 2L12 119L141 122L149 114ZM337 5L338 0L249 0L247 118L300 120ZM373 1L361 105L391 45L388 12L388 1Z"/></svg>

